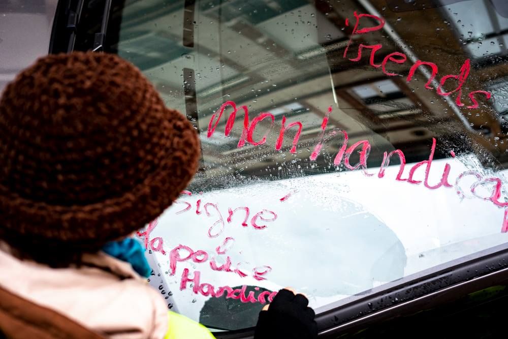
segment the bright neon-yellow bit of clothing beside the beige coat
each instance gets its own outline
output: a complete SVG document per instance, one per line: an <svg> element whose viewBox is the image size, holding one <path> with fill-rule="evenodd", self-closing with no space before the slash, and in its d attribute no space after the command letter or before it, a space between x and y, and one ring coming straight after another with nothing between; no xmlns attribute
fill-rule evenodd
<svg viewBox="0 0 508 339"><path fill-rule="evenodd" d="M215 339L215 337L200 323L168 311L168 332L164 339Z"/></svg>

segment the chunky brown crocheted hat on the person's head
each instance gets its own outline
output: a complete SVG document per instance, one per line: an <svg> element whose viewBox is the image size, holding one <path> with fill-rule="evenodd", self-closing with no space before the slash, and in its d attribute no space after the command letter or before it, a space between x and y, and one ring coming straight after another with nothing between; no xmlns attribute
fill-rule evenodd
<svg viewBox="0 0 508 339"><path fill-rule="evenodd" d="M114 54L48 55L0 101L0 238L97 250L171 205L199 140Z"/></svg>

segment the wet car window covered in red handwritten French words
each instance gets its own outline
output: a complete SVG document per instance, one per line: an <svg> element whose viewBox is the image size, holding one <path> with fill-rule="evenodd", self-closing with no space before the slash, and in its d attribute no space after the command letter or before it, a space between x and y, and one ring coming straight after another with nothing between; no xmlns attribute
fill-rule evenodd
<svg viewBox="0 0 508 339"><path fill-rule="evenodd" d="M245 328L291 286L320 313L507 241L503 1L113 6L107 49L201 139L139 233L170 309Z"/></svg>

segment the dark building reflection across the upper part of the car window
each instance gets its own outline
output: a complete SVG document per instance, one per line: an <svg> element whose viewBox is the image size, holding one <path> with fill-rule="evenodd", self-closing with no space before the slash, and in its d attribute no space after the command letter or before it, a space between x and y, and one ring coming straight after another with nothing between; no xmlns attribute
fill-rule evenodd
<svg viewBox="0 0 508 339"><path fill-rule="evenodd" d="M116 21L113 16L111 25L119 27L119 39L110 48L138 65L167 104L185 112L202 132L206 174L197 178L204 180L201 187L204 182L212 184L211 177L273 178L335 170L331 159L340 147L337 140L327 141L316 162L308 160L329 106L333 111L328 131L347 131L350 144L369 140L371 166L379 166L387 149L402 149L408 161L425 159L432 137L442 145L436 149L436 158L453 148L482 156L497 153L503 163L508 143L494 138L504 138L499 115L506 113L501 85L505 72L500 61L505 55L508 19L488 2L447 4L396 13L383 2L367 0L314 4L303 0L185 4L147 0L126 3ZM471 6L474 11L469 11ZM386 29L351 37L355 11L383 16ZM375 24L362 21L362 27ZM382 45L374 56L376 64L396 51L410 51L420 60L435 63L437 81L443 75L459 74L464 60L471 58L462 101L469 105L467 93L475 89L490 90L494 99L480 98L478 109L457 107L456 94L446 101L425 88L428 78L420 69L407 82L409 59L388 66L390 72L404 75L393 77L369 65L368 50L352 61L361 43ZM444 87L451 90L456 85L449 79ZM256 141L266 135L265 144L237 147L243 112L237 113L228 136L224 135L226 112L216 133L206 137L203 132L211 115L226 101L246 105L249 121L261 112L273 114L273 124L264 119L252 133ZM301 122L303 126L296 155L289 153L296 128L284 133L283 153L273 147L282 116L286 124Z"/></svg>

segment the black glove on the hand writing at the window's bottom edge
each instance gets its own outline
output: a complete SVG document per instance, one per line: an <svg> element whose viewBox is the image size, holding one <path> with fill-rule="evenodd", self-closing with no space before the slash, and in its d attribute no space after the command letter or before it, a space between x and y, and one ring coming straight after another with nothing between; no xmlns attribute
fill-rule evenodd
<svg viewBox="0 0 508 339"><path fill-rule="evenodd" d="M315 339L315 313L307 307L309 300L302 294L280 290L268 311L261 311L254 339Z"/></svg>

